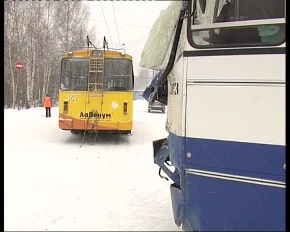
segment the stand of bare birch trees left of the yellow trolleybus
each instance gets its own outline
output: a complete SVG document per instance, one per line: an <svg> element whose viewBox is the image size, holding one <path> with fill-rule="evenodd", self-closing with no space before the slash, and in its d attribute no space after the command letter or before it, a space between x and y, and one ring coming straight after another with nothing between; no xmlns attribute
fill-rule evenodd
<svg viewBox="0 0 290 232"><path fill-rule="evenodd" d="M81 1L5 1L4 62L7 107L40 106L58 97L61 54L86 44L89 8ZM17 72L14 64L24 63Z"/></svg>

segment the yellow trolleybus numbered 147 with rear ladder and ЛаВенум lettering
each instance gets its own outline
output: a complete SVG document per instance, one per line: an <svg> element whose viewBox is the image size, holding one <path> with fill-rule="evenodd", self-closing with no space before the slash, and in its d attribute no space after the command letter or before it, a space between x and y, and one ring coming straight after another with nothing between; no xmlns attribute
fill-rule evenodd
<svg viewBox="0 0 290 232"><path fill-rule="evenodd" d="M103 49L93 47L71 49L62 55L59 128L72 133L110 131L131 135L132 56L124 49L105 49L105 43Z"/></svg>

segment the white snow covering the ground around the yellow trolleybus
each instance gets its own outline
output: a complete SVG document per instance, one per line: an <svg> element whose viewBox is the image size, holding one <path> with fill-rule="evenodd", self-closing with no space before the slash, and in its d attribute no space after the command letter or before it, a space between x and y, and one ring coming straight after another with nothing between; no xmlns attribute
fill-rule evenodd
<svg viewBox="0 0 290 232"><path fill-rule="evenodd" d="M4 231L182 231L152 141L166 114L134 101L132 136L94 145L58 127L58 108L5 109Z"/></svg>

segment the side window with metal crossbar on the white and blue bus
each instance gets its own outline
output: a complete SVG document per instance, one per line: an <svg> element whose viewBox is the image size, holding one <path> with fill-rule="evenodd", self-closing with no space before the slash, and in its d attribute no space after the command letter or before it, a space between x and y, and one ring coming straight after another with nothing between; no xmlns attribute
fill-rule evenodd
<svg viewBox="0 0 290 232"><path fill-rule="evenodd" d="M284 19L284 4L284 0L207 0L203 14L197 1L196 19L189 20L189 42L197 47L237 46L239 44L257 46L269 45L269 43L278 45L285 39L285 24L280 22L263 25L260 22L257 25L253 20ZM193 33L195 32L194 22L191 21L198 21L205 26L230 23L229 27L223 25L223 27L210 28L196 34ZM235 24L239 21L247 22L243 25Z"/></svg>

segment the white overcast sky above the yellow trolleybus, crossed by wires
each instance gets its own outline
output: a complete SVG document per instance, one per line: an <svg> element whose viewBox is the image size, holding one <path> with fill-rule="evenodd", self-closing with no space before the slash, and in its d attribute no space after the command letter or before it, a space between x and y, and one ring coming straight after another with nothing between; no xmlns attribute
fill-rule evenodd
<svg viewBox="0 0 290 232"><path fill-rule="evenodd" d="M123 48L133 56L136 74L150 29L170 2L86 1L91 10L90 26L96 27L97 32L97 41L92 42L100 47L105 36L109 47L120 48L125 43Z"/></svg>

